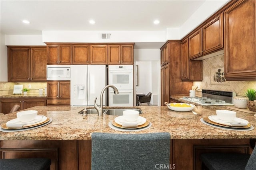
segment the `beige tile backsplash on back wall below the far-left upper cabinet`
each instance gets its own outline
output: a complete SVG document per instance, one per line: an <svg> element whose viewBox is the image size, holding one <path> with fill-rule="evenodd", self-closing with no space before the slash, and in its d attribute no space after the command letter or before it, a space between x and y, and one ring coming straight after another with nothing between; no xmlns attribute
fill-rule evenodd
<svg viewBox="0 0 256 170"><path fill-rule="evenodd" d="M23 88L29 89L28 94L39 94L39 89L47 86L46 82L0 82L0 96L12 95L13 86L16 84L22 84ZM28 85L31 85L31 88Z"/></svg>

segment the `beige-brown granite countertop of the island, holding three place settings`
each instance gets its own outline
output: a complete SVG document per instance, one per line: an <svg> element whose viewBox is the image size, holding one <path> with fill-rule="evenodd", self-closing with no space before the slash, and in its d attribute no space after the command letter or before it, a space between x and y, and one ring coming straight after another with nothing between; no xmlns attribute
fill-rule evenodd
<svg viewBox="0 0 256 170"><path fill-rule="evenodd" d="M38 110L38 115L45 115L53 121L43 127L20 132L0 133L0 140L86 140L91 139L92 132L106 133L156 133L169 132L172 139L250 139L256 138L256 129L251 131L231 131L205 125L200 121L202 117L215 115L216 109L227 109L225 106L196 106L191 111L178 112L166 106L141 106L142 117L152 123L152 127L143 131L116 131L108 126L117 115L97 114L82 115L78 111L86 108L74 106L62 107L32 107ZM88 107L89 108L89 107ZM92 106L90 107L92 108ZM25 109L28 110L28 109ZM256 117L252 113L236 111L237 117L246 119L256 127ZM16 118L16 113L0 116L0 123Z"/></svg>

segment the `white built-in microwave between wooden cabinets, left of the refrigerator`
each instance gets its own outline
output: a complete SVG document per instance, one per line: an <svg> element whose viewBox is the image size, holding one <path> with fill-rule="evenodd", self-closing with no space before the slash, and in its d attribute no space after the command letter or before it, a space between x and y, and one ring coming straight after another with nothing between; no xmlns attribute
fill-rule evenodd
<svg viewBox="0 0 256 170"><path fill-rule="evenodd" d="M70 80L70 65L47 65L46 80Z"/></svg>

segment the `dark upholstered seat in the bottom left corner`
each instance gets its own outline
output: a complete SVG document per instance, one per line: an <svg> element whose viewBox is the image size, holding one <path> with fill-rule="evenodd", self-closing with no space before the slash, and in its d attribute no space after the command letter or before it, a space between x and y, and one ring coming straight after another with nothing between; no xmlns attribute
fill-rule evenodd
<svg viewBox="0 0 256 170"><path fill-rule="evenodd" d="M1 159L1 170L50 170L48 158Z"/></svg>

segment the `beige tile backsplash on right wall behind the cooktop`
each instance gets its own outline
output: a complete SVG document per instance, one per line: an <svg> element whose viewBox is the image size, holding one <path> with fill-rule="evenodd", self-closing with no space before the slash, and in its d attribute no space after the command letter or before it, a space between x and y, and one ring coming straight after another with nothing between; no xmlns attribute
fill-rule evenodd
<svg viewBox="0 0 256 170"><path fill-rule="evenodd" d="M256 82L254 81L226 81L226 82L214 82L214 72L218 72L220 68L221 73L224 72L224 54L209 59L203 60L203 81L194 82L194 86L200 85L201 89L207 90L220 90L236 92L237 96L245 94L248 88L256 89ZM211 80L212 79L212 80ZM220 78L221 79L221 78Z"/></svg>

